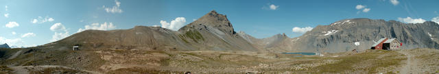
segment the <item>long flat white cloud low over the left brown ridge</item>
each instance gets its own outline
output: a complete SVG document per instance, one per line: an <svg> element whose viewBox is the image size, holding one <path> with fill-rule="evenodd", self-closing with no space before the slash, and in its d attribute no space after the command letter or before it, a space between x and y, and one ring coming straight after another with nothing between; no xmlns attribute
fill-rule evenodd
<svg viewBox="0 0 439 74"><path fill-rule="evenodd" d="M82 28L78 29L78 32L82 32L86 29L107 30L107 29L115 29L115 28L116 28L116 26L112 25L111 22L110 23L105 22L105 23L102 23L100 25L99 25L99 23L92 23L91 25L85 25L85 29L82 29Z"/></svg>

